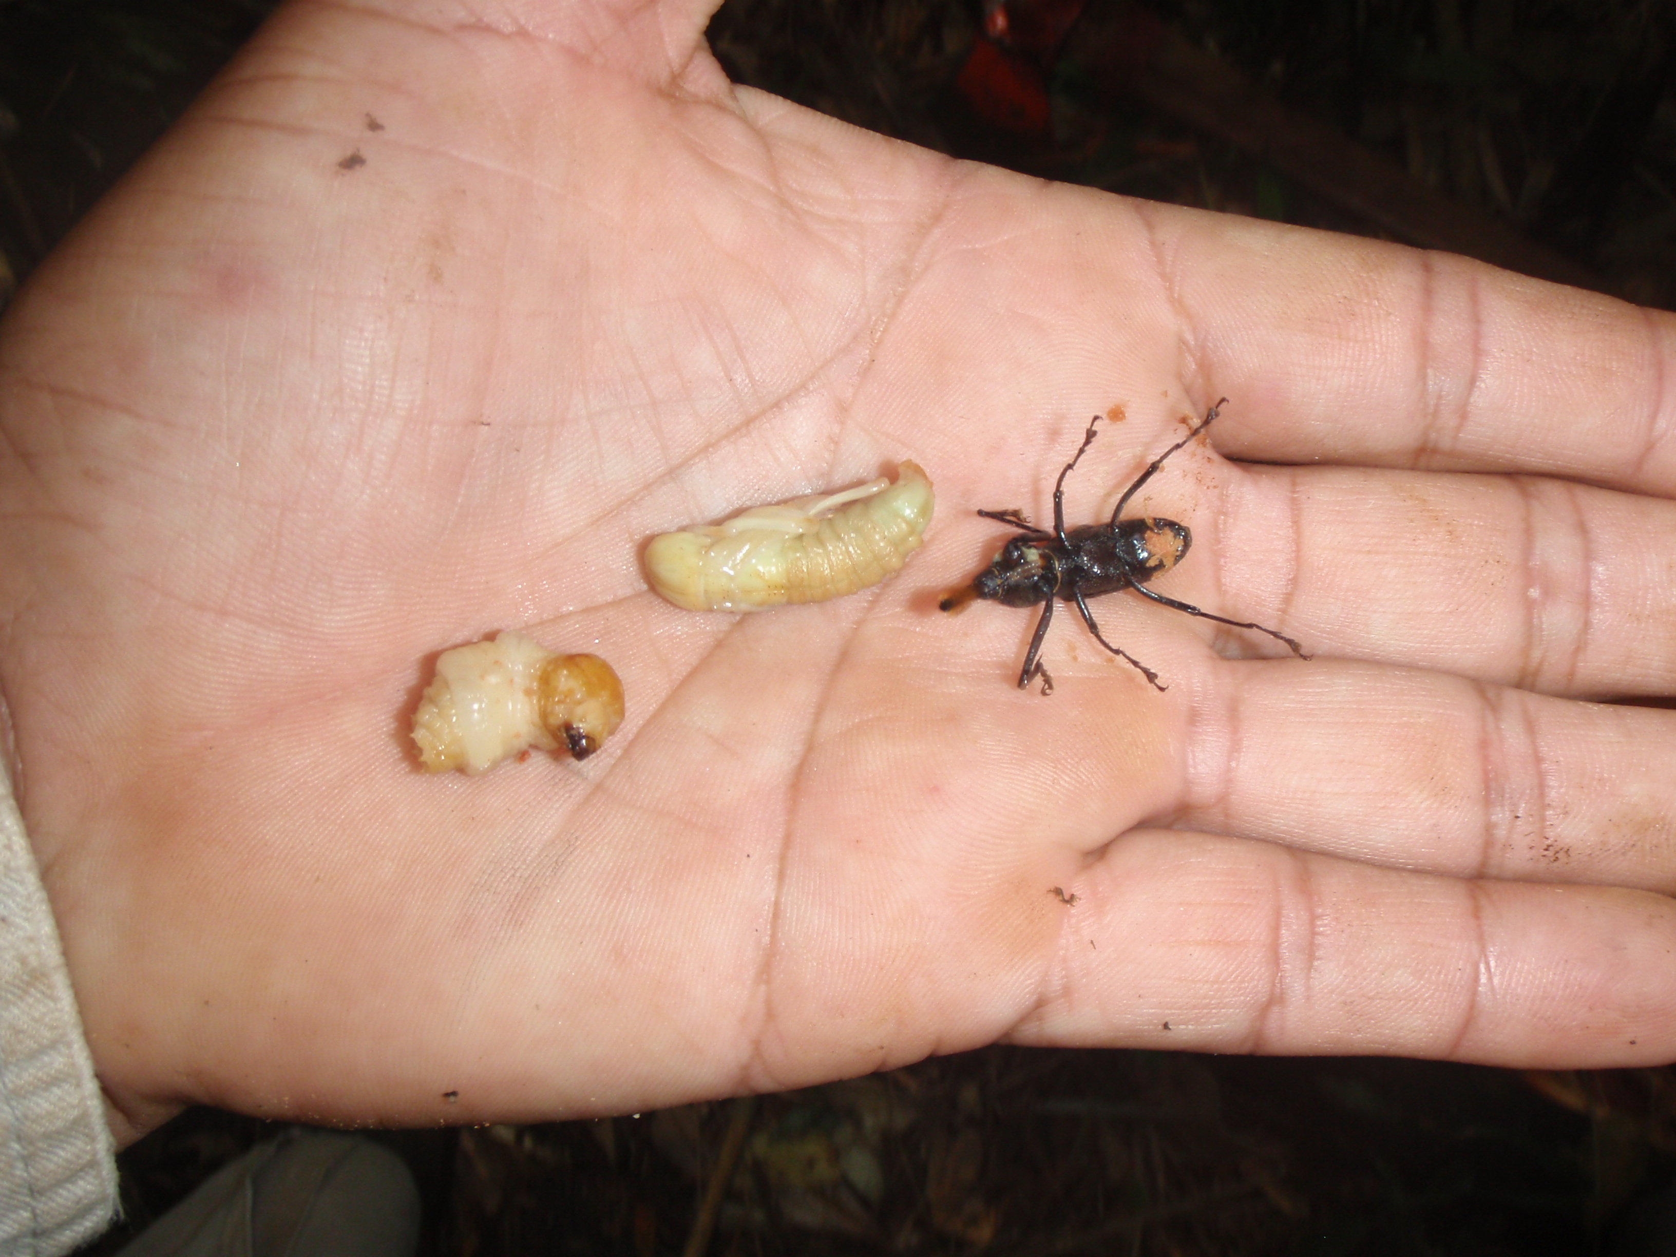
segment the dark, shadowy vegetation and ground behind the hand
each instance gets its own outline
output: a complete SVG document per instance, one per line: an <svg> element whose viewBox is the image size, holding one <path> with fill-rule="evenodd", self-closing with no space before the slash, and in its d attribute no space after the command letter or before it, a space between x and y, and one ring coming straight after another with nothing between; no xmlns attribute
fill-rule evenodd
<svg viewBox="0 0 1676 1257"><path fill-rule="evenodd" d="M270 8L0 0L0 300ZM711 25L734 79L957 156L1666 308L1673 34L1651 0L729 0ZM1673 1252L1624 1247L1676 1180L1673 1078L994 1048L375 1138L431 1254ZM198 1110L131 1148L94 1252L272 1133Z"/></svg>

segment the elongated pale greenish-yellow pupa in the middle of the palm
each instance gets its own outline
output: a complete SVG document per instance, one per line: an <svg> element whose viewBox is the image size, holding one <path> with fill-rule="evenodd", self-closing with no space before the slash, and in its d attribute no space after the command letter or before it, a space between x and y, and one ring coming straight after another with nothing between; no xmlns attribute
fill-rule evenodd
<svg viewBox="0 0 1676 1257"><path fill-rule="evenodd" d="M652 538L652 588L691 612L758 612L877 585L920 548L932 483L917 463L831 494L753 506L731 520Z"/></svg>

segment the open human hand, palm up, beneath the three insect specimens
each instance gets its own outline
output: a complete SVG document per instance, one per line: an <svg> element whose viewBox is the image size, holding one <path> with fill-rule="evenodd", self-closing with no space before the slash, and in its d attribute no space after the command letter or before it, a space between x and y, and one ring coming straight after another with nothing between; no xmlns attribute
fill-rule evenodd
<svg viewBox="0 0 1676 1257"><path fill-rule="evenodd" d="M1579 699L1676 677L1671 320L950 163L732 89L706 17L293 3L8 313L0 684L119 1136L996 1039L1669 1059L1676 717ZM1074 523L1223 394L1131 513L1312 662L1108 597L1168 691L1061 615L1042 699L1032 613L934 610L1089 414ZM645 590L898 458L939 511L877 592ZM627 724L424 776L421 660L499 628Z"/></svg>

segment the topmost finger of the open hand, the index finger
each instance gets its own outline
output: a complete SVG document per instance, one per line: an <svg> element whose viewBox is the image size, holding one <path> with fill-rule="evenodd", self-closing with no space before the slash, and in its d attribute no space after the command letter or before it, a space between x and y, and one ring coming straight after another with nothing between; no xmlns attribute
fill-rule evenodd
<svg viewBox="0 0 1676 1257"><path fill-rule="evenodd" d="M1676 317L1443 253L1136 213L1200 396L1237 402L1229 453L1676 491Z"/></svg>

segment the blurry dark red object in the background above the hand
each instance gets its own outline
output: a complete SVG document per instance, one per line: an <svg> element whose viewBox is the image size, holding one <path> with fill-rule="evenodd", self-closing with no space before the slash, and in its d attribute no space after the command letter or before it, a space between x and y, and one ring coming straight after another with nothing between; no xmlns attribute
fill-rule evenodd
<svg viewBox="0 0 1676 1257"><path fill-rule="evenodd" d="M979 117L1019 134L1048 129L1048 84L1041 67L1083 12L1083 3L989 0L984 5L984 35L972 40L972 52L955 79Z"/></svg>

